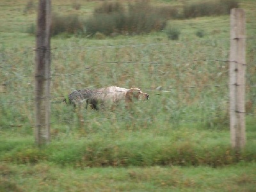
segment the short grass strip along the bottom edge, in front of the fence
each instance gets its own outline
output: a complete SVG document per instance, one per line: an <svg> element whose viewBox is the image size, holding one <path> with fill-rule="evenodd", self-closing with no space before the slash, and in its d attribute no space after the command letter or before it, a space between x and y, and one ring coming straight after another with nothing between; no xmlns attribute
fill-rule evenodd
<svg viewBox="0 0 256 192"><path fill-rule="evenodd" d="M153 166L77 170L0 164L1 191L254 191L255 163L224 168Z"/></svg>

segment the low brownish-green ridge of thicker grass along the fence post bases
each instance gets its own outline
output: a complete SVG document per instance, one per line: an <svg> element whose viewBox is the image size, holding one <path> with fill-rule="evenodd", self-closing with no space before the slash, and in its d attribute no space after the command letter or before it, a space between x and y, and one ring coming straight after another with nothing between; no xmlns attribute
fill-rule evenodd
<svg viewBox="0 0 256 192"><path fill-rule="evenodd" d="M246 148L237 157L229 143L212 143L199 145L189 140L172 142L157 136L152 138L133 138L133 140L118 140L113 143L111 138L97 137L89 141L65 140L53 142L44 150L21 147L19 152L2 154L1 161L17 164L35 164L49 161L63 166L100 167L100 166L156 166L156 165L209 165L212 167L237 163L238 161L253 161L255 149ZM65 143L63 143L65 142ZM201 143L203 144L203 143ZM61 150L60 150L61 149ZM0 170L11 174L10 170L0 166Z"/></svg>

